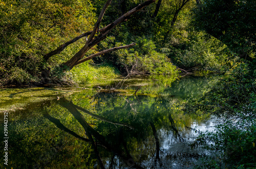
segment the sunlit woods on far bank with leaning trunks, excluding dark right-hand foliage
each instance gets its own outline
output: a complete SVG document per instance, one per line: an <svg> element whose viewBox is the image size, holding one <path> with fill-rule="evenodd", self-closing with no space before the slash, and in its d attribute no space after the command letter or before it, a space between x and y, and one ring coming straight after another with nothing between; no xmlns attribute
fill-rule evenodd
<svg viewBox="0 0 256 169"><path fill-rule="evenodd" d="M147 1L132 15L128 11L140 1L104 3L1 1L1 85L224 71L230 51L220 38L197 27L200 2ZM116 25L106 31L110 23ZM126 49L120 49L123 46Z"/></svg>

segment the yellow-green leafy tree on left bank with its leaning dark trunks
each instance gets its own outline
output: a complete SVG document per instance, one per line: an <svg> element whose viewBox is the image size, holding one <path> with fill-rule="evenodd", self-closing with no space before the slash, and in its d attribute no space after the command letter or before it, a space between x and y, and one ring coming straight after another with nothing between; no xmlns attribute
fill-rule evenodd
<svg viewBox="0 0 256 169"><path fill-rule="evenodd" d="M65 68L62 71L70 70L97 55L134 46L135 43L131 43L98 53L90 50L118 24L155 0L138 5L100 29L111 2L106 2L96 21L95 8L89 0L0 1L0 84L39 81L38 77L49 76L54 66L61 65ZM89 57L82 60L85 54Z"/></svg>

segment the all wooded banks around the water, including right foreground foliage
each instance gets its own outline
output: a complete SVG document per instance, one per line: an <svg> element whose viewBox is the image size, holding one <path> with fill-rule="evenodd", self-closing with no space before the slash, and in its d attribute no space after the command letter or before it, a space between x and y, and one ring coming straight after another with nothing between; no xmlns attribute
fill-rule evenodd
<svg viewBox="0 0 256 169"><path fill-rule="evenodd" d="M255 168L255 16L254 0L0 0L0 85L227 72L184 111L226 120L195 143L219 153L206 167Z"/></svg>

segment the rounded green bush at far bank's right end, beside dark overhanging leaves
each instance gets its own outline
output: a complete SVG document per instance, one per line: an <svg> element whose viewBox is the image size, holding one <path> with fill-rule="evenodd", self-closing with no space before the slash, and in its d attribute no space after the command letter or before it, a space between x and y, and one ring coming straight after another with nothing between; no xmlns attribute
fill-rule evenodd
<svg viewBox="0 0 256 169"><path fill-rule="evenodd" d="M219 71L227 59L225 45L202 32L189 34L184 44L161 48L162 52L182 69Z"/></svg>

